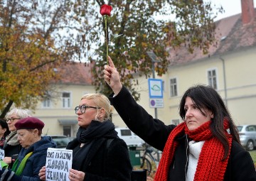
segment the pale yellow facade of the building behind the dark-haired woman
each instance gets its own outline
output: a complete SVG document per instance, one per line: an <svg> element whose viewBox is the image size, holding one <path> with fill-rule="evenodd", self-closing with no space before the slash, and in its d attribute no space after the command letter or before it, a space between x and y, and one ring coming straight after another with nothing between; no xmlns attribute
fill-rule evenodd
<svg viewBox="0 0 256 181"><path fill-rule="evenodd" d="M223 98L235 124L255 124L256 111L256 47L226 55L205 58L200 61L169 67L166 75L156 77L164 82L164 108L157 108L157 118L165 124L181 123L178 106L186 90L196 84L209 85L209 72L215 72L216 90ZM139 79L139 104L155 117L154 108L149 106L149 85L144 77ZM176 95L171 95L176 79ZM113 115L117 125L125 126L117 113Z"/></svg>

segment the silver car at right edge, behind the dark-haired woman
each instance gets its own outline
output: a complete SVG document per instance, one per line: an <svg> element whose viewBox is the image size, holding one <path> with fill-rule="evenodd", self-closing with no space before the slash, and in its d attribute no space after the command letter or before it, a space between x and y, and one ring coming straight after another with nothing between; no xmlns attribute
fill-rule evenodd
<svg viewBox="0 0 256 181"><path fill-rule="evenodd" d="M246 150L253 150L256 146L256 125L237 126L240 142Z"/></svg>

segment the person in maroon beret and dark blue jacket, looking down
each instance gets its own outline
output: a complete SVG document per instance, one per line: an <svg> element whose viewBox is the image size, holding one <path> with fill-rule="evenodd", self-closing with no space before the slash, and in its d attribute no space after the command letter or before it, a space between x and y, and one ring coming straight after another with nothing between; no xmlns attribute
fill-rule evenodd
<svg viewBox="0 0 256 181"><path fill-rule="evenodd" d="M38 173L46 165L47 149L57 146L49 136L41 136L44 123L40 119L27 117L14 126L22 149L11 169L0 170L0 180L40 181Z"/></svg>

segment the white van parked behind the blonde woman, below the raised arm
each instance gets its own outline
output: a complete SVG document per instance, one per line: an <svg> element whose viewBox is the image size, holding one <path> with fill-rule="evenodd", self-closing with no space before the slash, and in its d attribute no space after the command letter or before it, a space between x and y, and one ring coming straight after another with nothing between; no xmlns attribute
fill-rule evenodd
<svg viewBox="0 0 256 181"><path fill-rule="evenodd" d="M139 138L135 133L133 133L129 128L115 128L119 138L122 138L127 146L141 147L145 143L142 138Z"/></svg>

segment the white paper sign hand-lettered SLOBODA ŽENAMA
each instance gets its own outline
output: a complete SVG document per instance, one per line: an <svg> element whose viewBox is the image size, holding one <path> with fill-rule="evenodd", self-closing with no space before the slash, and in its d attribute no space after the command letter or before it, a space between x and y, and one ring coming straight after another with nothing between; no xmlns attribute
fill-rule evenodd
<svg viewBox="0 0 256 181"><path fill-rule="evenodd" d="M68 181L72 167L73 150L48 148L46 156L46 181Z"/></svg>

